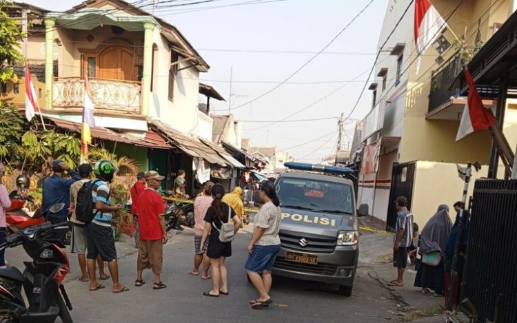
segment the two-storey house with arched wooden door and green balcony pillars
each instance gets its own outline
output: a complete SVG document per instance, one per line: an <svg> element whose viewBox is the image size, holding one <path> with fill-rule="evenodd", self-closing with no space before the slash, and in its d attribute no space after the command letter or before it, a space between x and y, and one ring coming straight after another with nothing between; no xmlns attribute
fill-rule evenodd
<svg viewBox="0 0 517 323"><path fill-rule="evenodd" d="M121 0L88 0L65 12L14 6L31 12L21 12L22 25L40 28L23 43L25 56L44 66L44 79L40 73L37 81L45 86L36 86L47 122L80 132L88 78L95 106L92 136L99 135L110 151L168 174L169 182L185 169L192 187L194 179L210 179L210 165L239 167L198 138L212 133L212 119L198 109L204 88L199 75L210 66L174 25ZM203 93L210 99L212 92Z"/></svg>

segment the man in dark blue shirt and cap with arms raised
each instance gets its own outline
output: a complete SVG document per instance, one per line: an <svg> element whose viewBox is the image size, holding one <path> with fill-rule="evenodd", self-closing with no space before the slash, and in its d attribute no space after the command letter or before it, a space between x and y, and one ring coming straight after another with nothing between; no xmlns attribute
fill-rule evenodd
<svg viewBox="0 0 517 323"><path fill-rule="evenodd" d="M70 186L80 180L81 177L70 169L63 160L56 159L52 162L52 171L54 174L43 180L43 202L41 211L46 214L47 219L52 223L59 223L68 220L68 209L70 208ZM65 171L71 178L65 179L63 175ZM56 213L50 212L52 205L63 203L64 207Z"/></svg>

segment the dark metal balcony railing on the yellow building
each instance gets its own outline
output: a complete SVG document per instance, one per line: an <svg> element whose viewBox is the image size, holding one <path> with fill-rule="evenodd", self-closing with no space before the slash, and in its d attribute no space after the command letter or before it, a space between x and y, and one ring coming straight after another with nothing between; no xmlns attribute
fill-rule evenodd
<svg viewBox="0 0 517 323"><path fill-rule="evenodd" d="M440 105L443 105L443 103L449 101L451 96L458 96L459 89L453 88L449 90L449 87L456 79L456 76L460 74L461 69L461 56L456 54L432 73L428 112L432 112Z"/></svg>

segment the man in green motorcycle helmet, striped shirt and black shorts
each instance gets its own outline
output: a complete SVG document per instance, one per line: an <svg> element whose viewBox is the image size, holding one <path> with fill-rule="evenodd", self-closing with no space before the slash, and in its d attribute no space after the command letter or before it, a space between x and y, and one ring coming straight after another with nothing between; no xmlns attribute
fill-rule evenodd
<svg viewBox="0 0 517 323"><path fill-rule="evenodd" d="M101 159L94 167L93 174L98 180L92 184L92 200L94 202L93 213L95 214L92 222L86 225L87 235L87 264L88 275L90 275L90 291L98 291L103 289L103 284L97 283L95 274L95 260L98 256L105 262L108 262L113 281L113 293L122 293L129 291L128 287L123 286L119 282L119 264L116 261L116 248L111 221L113 212L122 209L123 205L111 205L110 186L114 175L119 168L110 160Z"/></svg>

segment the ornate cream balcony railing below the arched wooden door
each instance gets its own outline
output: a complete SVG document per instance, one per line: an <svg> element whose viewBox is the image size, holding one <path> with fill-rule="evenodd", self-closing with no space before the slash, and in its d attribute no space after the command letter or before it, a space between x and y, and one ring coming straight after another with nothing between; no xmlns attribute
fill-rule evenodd
<svg viewBox="0 0 517 323"><path fill-rule="evenodd" d="M88 79L96 109L141 114L141 83L108 79ZM83 107L84 78L54 79L54 107Z"/></svg>

